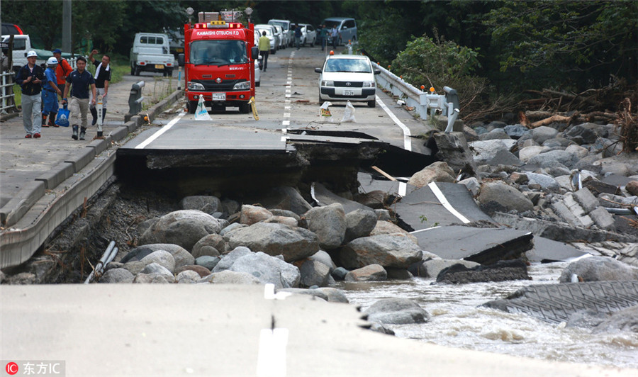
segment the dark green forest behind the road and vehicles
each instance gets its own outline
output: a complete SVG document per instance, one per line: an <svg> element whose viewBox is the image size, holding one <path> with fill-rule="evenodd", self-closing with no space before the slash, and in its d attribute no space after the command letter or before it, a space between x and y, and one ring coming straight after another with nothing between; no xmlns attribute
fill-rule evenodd
<svg viewBox="0 0 638 377"><path fill-rule="evenodd" d="M634 106L638 100L634 0L76 0L74 45L128 56L134 33L179 29L189 6L195 12L250 6L255 23L285 18L317 25L329 16L354 17L359 50L417 86L457 88L470 118L521 103L605 112L616 111L625 97ZM1 12L3 22L37 35L38 47L60 45L62 0L2 0Z"/></svg>

